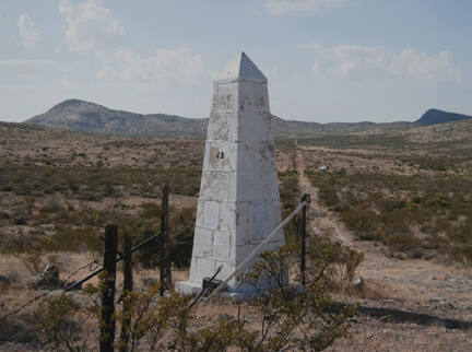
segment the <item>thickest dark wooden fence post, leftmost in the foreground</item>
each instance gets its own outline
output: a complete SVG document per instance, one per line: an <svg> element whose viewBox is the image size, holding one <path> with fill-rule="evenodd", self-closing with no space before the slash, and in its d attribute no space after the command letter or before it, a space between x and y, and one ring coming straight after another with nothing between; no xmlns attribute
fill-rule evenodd
<svg viewBox="0 0 472 352"><path fill-rule="evenodd" d="M118 226L105 227L104 275L102 284L102 319L99 345L102 352L113 352L115 341L115 280Z"/></svg>

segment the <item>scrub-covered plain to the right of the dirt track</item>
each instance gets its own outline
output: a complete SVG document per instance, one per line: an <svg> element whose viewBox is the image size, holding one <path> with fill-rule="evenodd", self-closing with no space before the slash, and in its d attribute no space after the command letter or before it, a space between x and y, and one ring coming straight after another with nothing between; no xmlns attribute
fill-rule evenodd
<svg viewBox="0 0 472 352"><path fill-rule="evenodd" d="M357 238L382 243L400 258L472 263L469 140L414 143L374 134L322 143L337 149L304 149L307 175L321 203ZM331 168L320 172L323 163Z"/></svg>

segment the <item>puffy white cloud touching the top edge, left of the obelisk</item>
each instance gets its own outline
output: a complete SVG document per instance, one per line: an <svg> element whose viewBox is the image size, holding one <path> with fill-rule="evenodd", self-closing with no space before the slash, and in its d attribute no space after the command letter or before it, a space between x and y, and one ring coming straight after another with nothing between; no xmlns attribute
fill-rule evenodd
<svg viewBox="0 0 472 352"><path fill-rule="evenodd" d="M72 52L114 50L125 27L99 0L86 0L80 5L69 0L59 2L59 12L67 22L66 45Z"/></svg>

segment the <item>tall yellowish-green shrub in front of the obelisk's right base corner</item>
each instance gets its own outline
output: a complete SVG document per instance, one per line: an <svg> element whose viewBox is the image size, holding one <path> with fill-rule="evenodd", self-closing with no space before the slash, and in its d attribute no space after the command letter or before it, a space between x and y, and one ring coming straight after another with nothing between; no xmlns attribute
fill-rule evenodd
<svg viewBox="0 0 472 352"><path fill-rule="evenodd" d="M309 274L302 292L286 284L286 272L295 247L284 246L262 253L260 260L253 265L253 271L247 277L248 282L256 286L263 283L258 297L250 303L262 317L261 331L253 342L255 350L320 351L347 331L347 319L355 314L355 307L328 313L332 306L333 259L341 258L334 254L337 248L333 246L317 249L315 260L308 262ZM357 265L353 262L353 267Z"/></svg>

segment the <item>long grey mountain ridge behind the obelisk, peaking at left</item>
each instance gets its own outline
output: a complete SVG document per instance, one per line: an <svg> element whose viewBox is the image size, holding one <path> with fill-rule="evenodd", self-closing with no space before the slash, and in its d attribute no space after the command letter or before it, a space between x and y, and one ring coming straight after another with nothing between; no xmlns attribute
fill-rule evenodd
<svg viewBox="0 0 472 352"><path fill-rule="evenodd" d="M187 118L165 114L142 115L113 110L90 102L69 99L25 122L76 131L132 137L204 138L208 118ZM404 129L411 126L411 122L317 124L284 120L276 116L272 118L272 130L276 137L352 133L379 128Z"/></svg>

